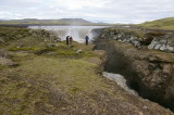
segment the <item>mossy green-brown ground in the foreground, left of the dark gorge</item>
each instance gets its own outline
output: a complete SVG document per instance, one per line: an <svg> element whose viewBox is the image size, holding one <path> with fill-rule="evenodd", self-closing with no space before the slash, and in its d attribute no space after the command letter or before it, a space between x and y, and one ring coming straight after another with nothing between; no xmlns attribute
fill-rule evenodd
<svg viewBox="0 0 174 115"><path fill-rule="evenodd" d="M52 33L0 27L0 114L173 114L130 95L100 73L94 44L66 46Z"/></svg>

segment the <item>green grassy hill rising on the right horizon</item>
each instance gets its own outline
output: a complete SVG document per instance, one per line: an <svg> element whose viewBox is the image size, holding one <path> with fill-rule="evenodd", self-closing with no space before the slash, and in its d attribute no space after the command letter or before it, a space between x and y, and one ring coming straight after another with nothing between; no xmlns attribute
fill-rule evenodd
<svg viewBox="0 0 174 115"><path fill-rule="evenodd" d="M146 23L139 24L138 26L148 27L148 28L158 28L158 29L174 29L174 17L146 22Z"/></svg>

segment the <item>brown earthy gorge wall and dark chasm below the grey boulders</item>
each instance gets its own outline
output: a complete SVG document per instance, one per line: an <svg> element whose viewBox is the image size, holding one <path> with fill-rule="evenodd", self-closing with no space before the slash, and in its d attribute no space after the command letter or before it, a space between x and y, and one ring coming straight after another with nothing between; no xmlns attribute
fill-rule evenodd
<svg viewBox="0 0 174 115"><path fill-rule="evenodd" d="M133 43L129 43L132 41L121 43L115 40L124 40L123 33L116 34L116 36L112 31L107 33L101 34L96 40L96 48L105 50L108 53L104 69L125 76L127 85L137 90L139 95L174 111L173 53L149 50L144 46L141 46L141 49L137 49L132 46ZM117 38L119 35L122 35L122 37ZM128 37L125 37L125 39L128 39ZM142 40L139 41L139 43L141 42Z"/></svg>

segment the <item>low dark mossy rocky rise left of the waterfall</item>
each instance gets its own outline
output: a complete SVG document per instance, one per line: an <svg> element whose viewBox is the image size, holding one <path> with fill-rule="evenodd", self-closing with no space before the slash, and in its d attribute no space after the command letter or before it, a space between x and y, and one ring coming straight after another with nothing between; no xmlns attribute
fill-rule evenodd
<svg viewBox="0 0 174 115"><path fill-rule="evenodd" d="M24 27L0 27L0 44L18 39L35 38L44 41L59 42L60 38L52 31Z"/></svg>

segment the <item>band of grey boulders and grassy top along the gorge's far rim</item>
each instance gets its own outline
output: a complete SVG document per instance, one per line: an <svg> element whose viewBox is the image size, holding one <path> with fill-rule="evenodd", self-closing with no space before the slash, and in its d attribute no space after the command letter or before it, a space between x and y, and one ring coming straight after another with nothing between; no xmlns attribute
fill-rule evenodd
<svg viewBox="0 0 174 115"><path fill-rule="evenodd" d="M158 30L140 30L130 28L109 28L109 29L94 29L95 36L120 41L122 43L130 43L140 49L147 47L148 49L160 50L163 52L174 53L174 33L158 31Z"/></svg>

